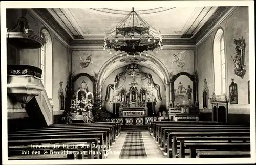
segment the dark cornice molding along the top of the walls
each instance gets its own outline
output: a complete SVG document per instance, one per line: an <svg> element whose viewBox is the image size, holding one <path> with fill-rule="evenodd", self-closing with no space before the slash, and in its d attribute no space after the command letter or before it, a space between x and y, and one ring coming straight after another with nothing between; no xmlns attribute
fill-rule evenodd
<svg viewBox="0 0 256 165"><path fill-rule="evenodd" d="M206 7L205 7L206 8ZM218 21L223 20L222 17L227 13L227 11L232 7L219 7L217 11L210 17L210 19L205 23L205 25L192 36L191 34L185 35L163 35L164 45L196 45L198 42L208 34L209 30L216 25ZM208 9L208 8L207 8ZM72 32L72 36L63 29L59 23L53 18L48 9L35 8L29 9L30 12L36 16L42 23L47 25L49 29L55 33L58 38L61 38L65 45L70 48L72 46L94 46L103 43L103 35L93 35L93 36L82 36L79 32ZM230 12L229 12L230 13ZM67 25L69 26L69 25ZM191 38L192 37L192 38Z"/></svg>

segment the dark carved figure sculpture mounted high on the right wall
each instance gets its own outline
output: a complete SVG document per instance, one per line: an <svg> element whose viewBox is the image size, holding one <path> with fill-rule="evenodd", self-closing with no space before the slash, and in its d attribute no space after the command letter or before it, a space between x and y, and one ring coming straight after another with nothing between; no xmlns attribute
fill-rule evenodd
<svg viewBox="0 0 256 165"><path fill-rule="evenodd" d="M234 62L234 74L243 79L246 72L245 41L243 37L241 39L234 39L234 44L236 45L236 53L234 53L234 56L231 56L231 59Z"/></svg>

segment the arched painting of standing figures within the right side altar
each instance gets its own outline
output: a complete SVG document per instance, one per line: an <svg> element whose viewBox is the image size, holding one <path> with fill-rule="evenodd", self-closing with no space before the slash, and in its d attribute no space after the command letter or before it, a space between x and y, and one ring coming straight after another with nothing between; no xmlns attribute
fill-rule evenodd
<svg viewBox="0 0 256 165"><path fill-rule="evenodd" d="M193 104L193 82L186 75L179 76L174 82L175 105Z"/></svg>

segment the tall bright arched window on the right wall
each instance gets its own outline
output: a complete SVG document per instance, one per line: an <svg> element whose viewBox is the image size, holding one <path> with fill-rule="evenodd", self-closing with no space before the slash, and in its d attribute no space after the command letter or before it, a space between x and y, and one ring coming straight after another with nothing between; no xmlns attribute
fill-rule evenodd
<svg viewBox="0 0 256 165"><path fill-rule="evenodd" d="M218 29L214 37L214 86L216 95L226 94L224 33Z"/></svg>

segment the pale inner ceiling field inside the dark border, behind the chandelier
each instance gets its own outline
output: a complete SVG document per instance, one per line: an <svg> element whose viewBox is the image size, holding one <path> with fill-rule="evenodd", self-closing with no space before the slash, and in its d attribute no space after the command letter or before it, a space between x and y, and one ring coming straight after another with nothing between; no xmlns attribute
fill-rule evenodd
<svg viewBox="0 0 256 165"><path fill-rule="evenodd" d="M215 13L218 7L156 7L140 8L135 11L163 38L191 38ZM131 8L67 8L48 9L51 15L73 39L103 36L105 31L115 27ZM186 36L187 37L186 37ZM185 36L185 37L184 37Z"/></svg>

